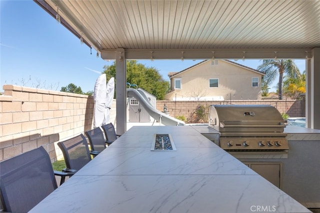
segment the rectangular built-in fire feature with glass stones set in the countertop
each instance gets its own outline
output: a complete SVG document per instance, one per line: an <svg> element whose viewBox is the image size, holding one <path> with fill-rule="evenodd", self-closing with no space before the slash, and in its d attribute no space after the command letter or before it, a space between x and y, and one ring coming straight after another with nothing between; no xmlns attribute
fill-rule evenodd
<svg viewBox="0 0 320 213"><path fill-rule="evenodd" d="M154 134L151 151L176 151L169 134Z"/></svg>

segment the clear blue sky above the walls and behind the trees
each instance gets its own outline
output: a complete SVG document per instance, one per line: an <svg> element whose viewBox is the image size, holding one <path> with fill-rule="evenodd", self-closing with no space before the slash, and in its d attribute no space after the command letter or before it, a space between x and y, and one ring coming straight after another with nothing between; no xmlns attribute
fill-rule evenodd
<svg viewBox="0 0 320 213"><path fill-rule="evenodd" d="M201 60L139 60L155 67L164 79ZM0 91L4 84L25 85L59 91L73 83L83 92L93 90L105 61L81 44L70 31L32 0L0 0ZM238 60L256 68L260 60ZM302 72L305 60L295 60ZM30 80L29 80L30 79ZM274 82L274 85L276 82ZM273 86L274 86L273 85ZM272 87L273 87L272 86ZM275 88L271 87L271 91Z"/></svg>

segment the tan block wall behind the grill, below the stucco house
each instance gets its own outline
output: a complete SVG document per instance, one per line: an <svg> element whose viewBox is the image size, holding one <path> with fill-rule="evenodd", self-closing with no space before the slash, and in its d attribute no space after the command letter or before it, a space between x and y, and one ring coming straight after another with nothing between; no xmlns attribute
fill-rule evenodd
<svg viewBox="0 0 320 213"><path fill-rule="evenodd" d="M188 118L198 105L209 107L212 104L230 104L230 101L156 101L156 109L163 111L164 104L172 117L184 116ZM287 113L289 117L305 117L305 102L303 100L232 100L231 104L271 105L280 113Z"/></svg>

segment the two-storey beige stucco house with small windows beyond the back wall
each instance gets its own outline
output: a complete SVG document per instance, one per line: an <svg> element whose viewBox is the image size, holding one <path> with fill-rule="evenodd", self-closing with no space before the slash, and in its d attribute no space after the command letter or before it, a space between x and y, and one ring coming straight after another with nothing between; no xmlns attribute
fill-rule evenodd
<svg viewBox="0 0 320 213"><path fill-rule="evenodd" d="M169 72L166 100L258 100L263 72L230 60L204 60Z"/></svg>

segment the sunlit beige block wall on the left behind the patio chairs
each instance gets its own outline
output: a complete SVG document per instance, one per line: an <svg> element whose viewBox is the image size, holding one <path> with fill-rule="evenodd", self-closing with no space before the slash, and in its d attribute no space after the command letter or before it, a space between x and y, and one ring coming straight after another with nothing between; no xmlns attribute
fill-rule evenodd
<svg viewBox="0 0 320 213"><path fill-rule="evenodd" d="M93 128L92 96L4 85L0 95L0 161L43 146L51 161L59 141ZM110 121L115 120L111 109Z"/></svg>

